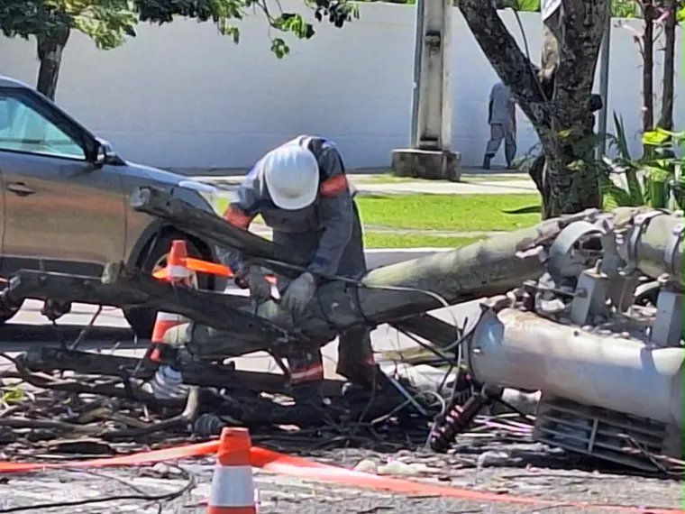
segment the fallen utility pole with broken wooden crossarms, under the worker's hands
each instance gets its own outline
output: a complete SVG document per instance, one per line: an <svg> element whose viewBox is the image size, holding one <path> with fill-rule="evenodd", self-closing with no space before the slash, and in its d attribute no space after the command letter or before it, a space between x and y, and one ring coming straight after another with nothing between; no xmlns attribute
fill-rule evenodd
<svg viewBox="0 0 685 514"><path fill-rule="evenodd" d="M155 188L137 189L132 195L132 207L159 216L189 234L239 250L248 259L290 277L301 272L305 264L293 262L292 256L277 244L235 228L220 217ZM659 211L637 208L623 209L616 214L616 230L620 230L625 239L621 248L625 248L626 259L632 259L636 266L644 267L652 276L672 271L671 280L681 287L681 243L675 245L670 264L665 264L663 259L660 262L658 258L669 247L670 234L677 232L681 218L650 214L655 212ZM403 329L416 329L422 336L430 335L434 324L434 332L444 336L448 332L444 322L416 315L443 307L443 302L453 305L497 295L515 289L525 280L540 278L545 272L544 262L554 261L553 242L562 230L577 222L589 224L601 216L606 218L607 215L588 211L546 220L451 252L371 270L354 282L328 278L318 289L304 317L297 320L284 314L274 302L262 304L255 316L245 298L171 288L127 270L123 265L110 268L97 287L94 286L96 280L92 279L23 272L16 279L18 283L10 284L9 290L10 294L14 291L17 298L55 298L117 307L146 304L163 308L196 320L198 324L194 330L203 339L215 343L224 340L227 354L243 353L252 343L256 343L252 346L253 351L288 340L324 344L337 332L360 324L377 326L389 322ZM635 220L643 219L640 216L646 217L648 223L636 223ZM614 215L611 217L613 221ZM589 234L598 239L598 231L597 228ZM587 256L578 255L580 262L566 266L565 272L571 277L589 261ZM573 258L578 259L578 255ZM402 326L403 319L406 319L406 327ZM202 326L212 327L212 330ZM242 344L243 341L249 344ZM234 349L232 344L236 345Z"/></svg>

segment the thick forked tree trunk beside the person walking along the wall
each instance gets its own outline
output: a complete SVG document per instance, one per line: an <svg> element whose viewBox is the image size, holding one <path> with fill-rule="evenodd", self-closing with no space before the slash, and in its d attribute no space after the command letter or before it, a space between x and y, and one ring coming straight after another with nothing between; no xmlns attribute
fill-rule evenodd
<svg viewBox="0 0 685 514"><path fill-rule="evenodd" d="M531 174L543 189L544 216L600 207L590 98L607 0L564 1L562 9L545 21L542 69L519 49L492 5L461 0L459 8L540 137L543 177L542 159Z"/></svg>

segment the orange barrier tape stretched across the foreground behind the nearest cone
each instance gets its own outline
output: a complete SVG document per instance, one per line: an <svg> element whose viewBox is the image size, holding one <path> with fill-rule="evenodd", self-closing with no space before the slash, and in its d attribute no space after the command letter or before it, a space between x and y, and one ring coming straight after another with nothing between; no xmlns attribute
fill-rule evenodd
<svg viewBox="0 0 685 514"><path fill-rule="evenodd" d="M198 445L177 446L163 450L153 450L140 454L122 455L105 459L89 461L71 461L67 463L9 463L0 462L0 473L36 472L44 469L59 468L93 468L105 466L130 466L140 464L152 464L162 461L186 459L202 455L215 454L219 447L218 441L200 443ZM497 501L505 503L523 503L537 506L568 506L578 509L604 509L613 512L631 512L642 514L680 514L683 509L649 509L639 507L625 507L618 505L591 504L579 501L560 502L555 500L538 500L510 496L507 494L494 494L490 492L468 491L442 485L433 485L421 482L412 482L397 478L388 478L371 473L362 473L328 464L319 464L308 461L301 457L279 454L264 448L252 447L250 453L251 464L270 473L285 474L304 480L334 482L338 485L347 485L376 491L396 492L400 494L420 494L441 496L444 498L459 498L473 501Z"/></svg>

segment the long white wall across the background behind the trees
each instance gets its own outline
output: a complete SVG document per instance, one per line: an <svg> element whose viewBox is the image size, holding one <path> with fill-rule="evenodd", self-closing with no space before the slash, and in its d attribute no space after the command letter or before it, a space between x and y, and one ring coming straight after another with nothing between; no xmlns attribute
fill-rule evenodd
<svg viewBox="0 0 685 514"><path fill-rule="evenodd" d="M301 5L297 0L282 4ZM501 15L523 48L514 15ZM540 17L520 16L537 62ZM137 38L110 51L96 50L74 34L65 51L57 101L125 158L161 167L247 167L298 133L324 134L338 142L350 168L387 167L390 151L406 146L412 7L362 5L361 20L343 30L320 25L314 40L294 41L284 60L270 53L266 25L259 17L245 19L241 28L242 41L236 46L211 23L141 25ZM489 134L489 87L497 76L457 10L452 38L452 148L461 151L465 166L479 166ZM625 29L614 30L611 48L609 109L624 116L637 151L640 58ZM681 56L677 62L677 121L682 127ZM33 85L36 71L32 41L0 43L0 73ZM661 69L655 76L660 80ZM536 142L520 113L518 140L520 151ZM502 161L499 156L495 163Z"/></svg>

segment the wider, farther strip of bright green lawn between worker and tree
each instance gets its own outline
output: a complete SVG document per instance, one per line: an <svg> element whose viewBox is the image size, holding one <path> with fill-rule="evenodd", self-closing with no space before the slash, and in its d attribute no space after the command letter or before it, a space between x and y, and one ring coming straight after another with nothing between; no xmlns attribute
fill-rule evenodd
<svg viewBox="0 0 685 514"><path fill-rule="evenodd" d="M364 225L453 232L515 230L540 221L538 195L357 197Z"/></svg>

